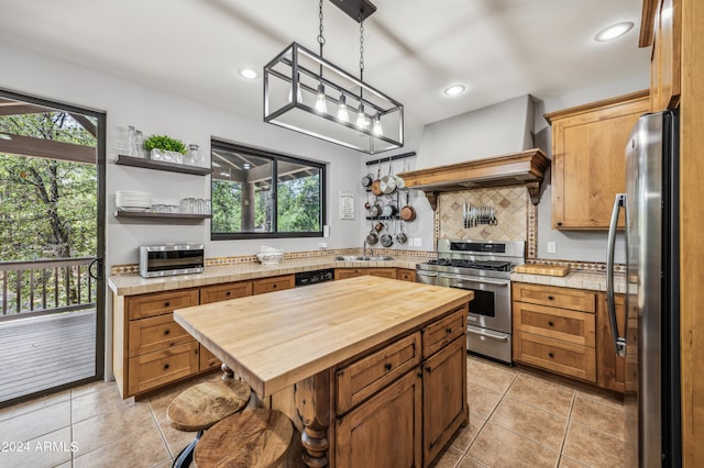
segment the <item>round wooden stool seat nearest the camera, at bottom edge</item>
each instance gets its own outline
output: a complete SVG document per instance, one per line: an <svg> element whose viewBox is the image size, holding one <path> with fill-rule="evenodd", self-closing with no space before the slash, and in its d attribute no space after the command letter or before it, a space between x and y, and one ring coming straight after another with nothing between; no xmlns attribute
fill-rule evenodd
<svg viewBox="0 0 704 468"><path fill-rule="evenodd" d="M294 426L280 411L256 409L215 424L196 446L198 468L284 466Z"/></svg>

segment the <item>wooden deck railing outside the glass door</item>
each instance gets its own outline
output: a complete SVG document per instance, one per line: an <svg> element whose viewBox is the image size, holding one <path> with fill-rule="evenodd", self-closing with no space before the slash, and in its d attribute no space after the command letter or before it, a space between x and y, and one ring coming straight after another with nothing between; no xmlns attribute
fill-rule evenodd
<svg viewBox="0 0 704 468"><path fill-rule="evenodd" d="M0 261L0 320L96 307L95 257Z"/></svg>

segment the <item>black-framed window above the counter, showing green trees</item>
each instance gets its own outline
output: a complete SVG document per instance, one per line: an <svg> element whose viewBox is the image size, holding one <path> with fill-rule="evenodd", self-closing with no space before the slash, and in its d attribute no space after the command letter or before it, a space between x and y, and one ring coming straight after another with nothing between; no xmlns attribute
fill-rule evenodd
<svg viewBox="0 0 704 468"><path fill-rule="evenodd" d="M322 237L324 165L218 141L211 148L211 239Z"/></svg>

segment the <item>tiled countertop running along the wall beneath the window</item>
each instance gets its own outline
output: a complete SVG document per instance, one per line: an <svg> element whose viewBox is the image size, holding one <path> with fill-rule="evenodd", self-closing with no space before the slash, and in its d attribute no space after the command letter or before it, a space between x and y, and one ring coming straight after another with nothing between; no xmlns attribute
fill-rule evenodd
<svg viewBox="0 0 704 468"><path fill-rule="evenodd" d="M393 260L383 261L336 261L334 256L331 255L329 257L285 259L278 265L240 264L222 267L206 267L206 270L201 274L164 278L142 278L139 275L113 275L108 278L108 286L117 296L133 296L290 275L323 268L408 268L415 270L416 264L427 261L427 257L394 256Z"/></svg>

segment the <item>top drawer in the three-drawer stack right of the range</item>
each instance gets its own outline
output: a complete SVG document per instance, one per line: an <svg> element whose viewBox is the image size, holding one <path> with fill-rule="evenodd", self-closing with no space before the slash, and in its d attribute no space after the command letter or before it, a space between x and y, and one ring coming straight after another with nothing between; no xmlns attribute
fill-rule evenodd
<svg viewBox="0 0 704 468"><path fill-rule="evenodd" d="M596 292L582 289L558 288L554 286L513 282L514 301L550 305L594 313L596 310Z"/></svg>

